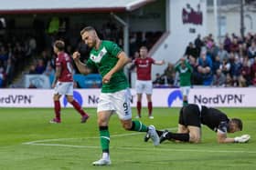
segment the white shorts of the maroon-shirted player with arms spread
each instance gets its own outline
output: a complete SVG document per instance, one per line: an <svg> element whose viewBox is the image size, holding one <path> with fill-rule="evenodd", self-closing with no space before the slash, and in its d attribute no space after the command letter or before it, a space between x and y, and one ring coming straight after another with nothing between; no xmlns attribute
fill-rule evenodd
<svg viewBox="0 0 256 170"><path fill-rule="evenodd" d="M152 95L153 85L151 80L136 80L135 88L137 94Z"/></svg>

